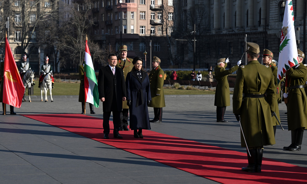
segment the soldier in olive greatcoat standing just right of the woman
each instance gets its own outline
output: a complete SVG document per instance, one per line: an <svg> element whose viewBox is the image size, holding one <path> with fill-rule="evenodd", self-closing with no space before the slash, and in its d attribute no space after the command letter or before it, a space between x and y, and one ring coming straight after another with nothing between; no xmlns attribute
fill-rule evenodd
<svg viewBox="0 0 307 184"><path fill-rule="evenodd" d="M149 86L151 93L151 102L148 107L153 107L154 118L150 122L162 121L162 107L165 107L165 99L163 92L164 71L160 67L161 60L157 56L153 56L153 69L149 74Z"/></svg>

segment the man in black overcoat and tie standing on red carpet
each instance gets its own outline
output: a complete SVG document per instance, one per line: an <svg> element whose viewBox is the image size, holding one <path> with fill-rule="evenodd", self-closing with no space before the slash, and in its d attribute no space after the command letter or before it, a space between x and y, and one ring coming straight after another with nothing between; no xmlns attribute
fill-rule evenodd
<svg viewBox="0 0 307 184"><path fill-rule="evenodd" d="M122 69L116 67L117 57L115 54L108 56L108 65L101 67L98 75L99 99L103 102L103 138L109 139L109 119L113 113L113 136L122 139L119 135L120 112L122 101L126 100L126 83Z"/></svg>

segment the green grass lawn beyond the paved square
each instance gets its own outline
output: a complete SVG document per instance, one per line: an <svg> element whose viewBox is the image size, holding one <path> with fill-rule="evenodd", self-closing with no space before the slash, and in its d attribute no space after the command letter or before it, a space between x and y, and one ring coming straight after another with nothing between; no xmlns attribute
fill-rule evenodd
<svg viewBox="0 0 307 184"><path fill-rule="evenodd" d="M36 85L34 86L34 95L40 96L41 91L37 87L38 81L34 81ZM68 83L68 82L54 82L54 89L52 90L52 95L79 95L80 83ZM232 92L232 91L231 91ZM26 94L28 92L26 91ZM178 90L178 89L164 89L165 95L185 95L185 94L215 94L214 90ZM49 95L49 91L47 92Z"/></svg>

